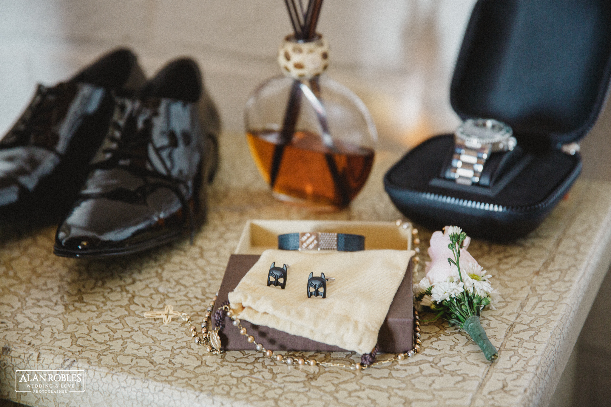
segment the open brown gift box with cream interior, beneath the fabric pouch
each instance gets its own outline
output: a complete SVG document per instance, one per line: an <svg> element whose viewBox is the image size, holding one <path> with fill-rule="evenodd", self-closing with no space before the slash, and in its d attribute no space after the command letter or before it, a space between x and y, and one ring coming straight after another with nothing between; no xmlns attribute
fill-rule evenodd
<svg viewBox="0 0 611 407"><path fill-rule="evenodd" d="M249 220L238 242L234 254L229 259L225 275L219 289L218 304L227 300L259 256L267 249L278 247L278 235L294 232L337 232L365 236L365 250L395 249L411 250L412 228L409 224L397 226L393 222L357 222L330 220ZM399 286L386 320L380 328L378 344L380 351L398 353L412 348L414 339L414 314L412 309L412 261L409 262L403 282ZM255 326L242 321L242 326L257 337L258 342L270 350L295 351L341 351L341 348L322 344L301 336L282 331ZM213 320L213 328L216 324ZM251 350L252 345L229 323L219 333L225 350Z"/></svg>

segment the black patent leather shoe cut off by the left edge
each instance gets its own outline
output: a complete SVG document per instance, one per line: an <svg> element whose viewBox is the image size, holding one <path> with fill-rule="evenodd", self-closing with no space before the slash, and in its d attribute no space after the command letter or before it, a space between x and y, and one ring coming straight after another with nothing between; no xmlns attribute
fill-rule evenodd
<svg viewBox="0 0 611 407"><path fill-rule="evenodd" d="M106 135L113 93L129 95L144 82L136 56L117 49L68 81L38 85L0 141L0 215L59 221Z"/></svg>

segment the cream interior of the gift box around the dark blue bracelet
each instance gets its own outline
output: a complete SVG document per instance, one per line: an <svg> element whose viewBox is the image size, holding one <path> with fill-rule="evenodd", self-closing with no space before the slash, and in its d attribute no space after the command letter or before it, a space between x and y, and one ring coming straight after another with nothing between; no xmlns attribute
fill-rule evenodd
<svg viewBox="0 0 611 407"><path fill-rule="evenodd" d="M397 225L397 223L399 223ZM234 254L261 254L278 248L278 235L294 232L336 232L365 236L365 250L411 250L412 225L402 222L354 220L249 220Z"/></svg>

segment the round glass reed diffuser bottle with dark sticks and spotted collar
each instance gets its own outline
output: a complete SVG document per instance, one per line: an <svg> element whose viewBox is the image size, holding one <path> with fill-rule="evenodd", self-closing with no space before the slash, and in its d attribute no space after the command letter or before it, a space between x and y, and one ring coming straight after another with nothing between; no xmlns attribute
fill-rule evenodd
<svg viewBox="0 0 611 407"><path fill-rule="evenodd" d="M339 209L362 189L373 165L376 129L348 88L323 74L329 46L315 27L322 0L285 0L295 33L278 52L284 75L246 103L246 137L273 195L316 209Z"/></svg>

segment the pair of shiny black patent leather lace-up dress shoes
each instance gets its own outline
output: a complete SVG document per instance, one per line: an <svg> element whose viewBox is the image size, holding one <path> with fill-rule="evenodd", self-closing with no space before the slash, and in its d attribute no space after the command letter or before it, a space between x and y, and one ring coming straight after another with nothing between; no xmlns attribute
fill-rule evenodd
<svg viewBox="0 0 611 407"><path fill-rule="evenodd" d="M192 239L220 127L196 62L174 60L147 81L133 52L117 49L66 82L38 85L0 140L0 214L61 214L59 256Z"/></svg>

